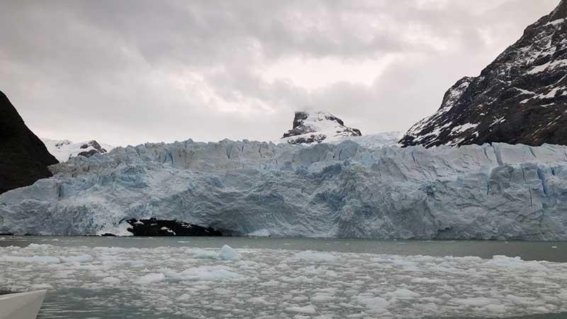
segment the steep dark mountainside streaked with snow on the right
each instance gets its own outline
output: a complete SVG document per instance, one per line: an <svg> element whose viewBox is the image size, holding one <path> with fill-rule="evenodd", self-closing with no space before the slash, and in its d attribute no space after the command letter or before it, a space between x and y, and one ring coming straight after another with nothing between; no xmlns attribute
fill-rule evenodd
<svg viewBox="0 0 567 319"><path fill-rule="evenodd" d="M486 142L567 145L567 0L529 26L478 77L447 91L403 146Z"/></svg>

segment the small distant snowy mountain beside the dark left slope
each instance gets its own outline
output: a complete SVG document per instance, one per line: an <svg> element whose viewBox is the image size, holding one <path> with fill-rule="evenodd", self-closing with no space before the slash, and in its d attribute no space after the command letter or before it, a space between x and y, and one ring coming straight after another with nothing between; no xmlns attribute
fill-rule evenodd
<svg viewBox="0 0 567 319"><path fill-rule="evenodd" d="M96 140L75 143L70 140L41 139L47 150L57 158L59 162L67 162L69 158L76 156L91 157L95 154L110 152L114 147L108 144L99 144Z"/></svg>

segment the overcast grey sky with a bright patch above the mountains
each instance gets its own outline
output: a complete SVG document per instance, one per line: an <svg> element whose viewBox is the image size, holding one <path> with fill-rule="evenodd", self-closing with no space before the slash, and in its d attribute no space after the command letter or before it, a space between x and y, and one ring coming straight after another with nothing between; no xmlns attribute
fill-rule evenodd
<svg viewBox="0 0 567 319"><path fill-rule="evenodd" d="M405 131L557 4L7 0L0 90L75 142L274 140L305 109Z"/></svg>

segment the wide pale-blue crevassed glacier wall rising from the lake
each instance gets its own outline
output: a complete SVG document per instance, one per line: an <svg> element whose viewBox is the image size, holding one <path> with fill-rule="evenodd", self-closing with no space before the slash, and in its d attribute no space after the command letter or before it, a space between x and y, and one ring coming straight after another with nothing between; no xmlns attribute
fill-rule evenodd
<svg viewBox="0 0 567 319"><path fill-rule="evenodd" d="M0 233L96 235L157 218L225 235L567 240L567 147L146 143L73 157L0 195Z"/></svg>

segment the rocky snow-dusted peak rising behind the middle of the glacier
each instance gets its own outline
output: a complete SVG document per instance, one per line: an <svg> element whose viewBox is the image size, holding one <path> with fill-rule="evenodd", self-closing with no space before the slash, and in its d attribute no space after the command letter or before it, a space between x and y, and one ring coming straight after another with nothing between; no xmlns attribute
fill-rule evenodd
<svg viewBox="0 0 567 319"><path fill-rule="evenodd" d="M313 142L332 142L345 136L361 136L357 128L349 128L344 122L329 112L296 112L293 128L281 138L289 144L311 144Z"/></svg>

